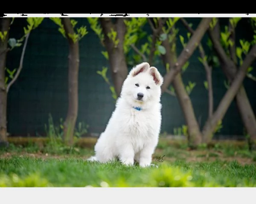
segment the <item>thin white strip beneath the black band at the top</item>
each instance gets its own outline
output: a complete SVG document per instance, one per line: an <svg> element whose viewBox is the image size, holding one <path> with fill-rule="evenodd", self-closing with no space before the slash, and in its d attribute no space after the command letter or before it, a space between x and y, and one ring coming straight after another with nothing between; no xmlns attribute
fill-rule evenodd
<svg viewBox="0 0 256 204"><path fill-rule="evenodd" d="M4 14L4 17L256 17L256 14Z"/></svg>

